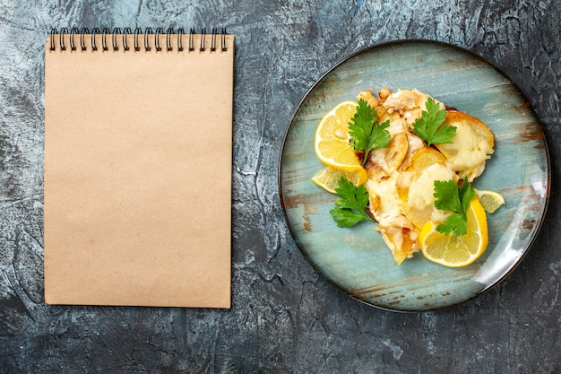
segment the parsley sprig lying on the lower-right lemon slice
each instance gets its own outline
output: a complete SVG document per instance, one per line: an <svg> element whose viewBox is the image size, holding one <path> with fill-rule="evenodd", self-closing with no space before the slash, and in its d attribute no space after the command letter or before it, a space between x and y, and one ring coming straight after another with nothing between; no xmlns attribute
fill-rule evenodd
<svg viewBox="0 0 561 374"><path fill-rule="evenodd" d="M467 211L470 201L475 196L468 178L462 185L457 185L453 180L435 180L435 207L454 213L446 218L444 223L436 226L436 230L445 235L453 232L455 236L462 236L468 232Z"/></svg>

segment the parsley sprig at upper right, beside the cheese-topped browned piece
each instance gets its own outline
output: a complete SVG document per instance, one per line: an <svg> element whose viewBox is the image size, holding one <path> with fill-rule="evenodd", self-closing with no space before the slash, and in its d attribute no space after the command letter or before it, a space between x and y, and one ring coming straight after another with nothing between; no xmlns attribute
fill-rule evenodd
<svg viewBox="0 0 561 374"><path fill-rule="evenodd" d="M418 118L413 124L411 131L431 144L452 143L456 135L456 127L444 125L446 110L440 109L440 104L433 98L428 98L427 110L421 112L422 118Z"/></svg>

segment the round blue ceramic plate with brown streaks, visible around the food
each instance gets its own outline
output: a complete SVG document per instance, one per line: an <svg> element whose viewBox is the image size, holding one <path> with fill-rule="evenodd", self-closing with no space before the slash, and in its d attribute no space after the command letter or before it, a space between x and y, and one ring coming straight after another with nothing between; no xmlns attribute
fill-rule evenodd
<svg viewBox="0 0 561 374"><path fill-rule="evenodd" d="M457 269L417 253L393 261L375 225L340 229L329 211L336 196L310 180L323 165L315 157L315 127L332 107L358 91L417 88L485 122L495 153L474 187L505 196L488 214L489 243L476 263ZM522 92L504 74L461 48L431 41L399 41L367 48L325 74L301 101L280 156L280 201L290 232L309 263L351 297L383 309L444 309L501 282L530 248L549 193L548 150Z"/></svg>

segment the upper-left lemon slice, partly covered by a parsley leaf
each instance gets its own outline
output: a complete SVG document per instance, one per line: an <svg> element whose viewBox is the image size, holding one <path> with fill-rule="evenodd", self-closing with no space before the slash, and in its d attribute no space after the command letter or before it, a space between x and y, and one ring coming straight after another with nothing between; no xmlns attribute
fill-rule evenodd
<svg viewBox="0 0 561 374"><path fill-rule="evenodd" d="M349 122L357 112L357 103L343 101L331 109L315 130L315 155L335 170L358 174L358 185L367 181L367 171L349 144Z"/></svg>

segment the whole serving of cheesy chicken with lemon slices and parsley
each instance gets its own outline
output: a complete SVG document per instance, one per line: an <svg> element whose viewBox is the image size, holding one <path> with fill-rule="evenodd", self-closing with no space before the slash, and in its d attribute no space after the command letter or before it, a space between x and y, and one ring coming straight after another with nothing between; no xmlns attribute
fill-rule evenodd
<svg viewBox="0 0 561 374"><path fill-rule="evenodd" d="M365 90L357 100L330 110L315 133L325 167L313 180L340 195L333 220L377 222L398 265L419 250L441 265L471 264L488 244L479 199L488 213L505 203L472 187L494 152L491 130L415 89Z"/></svg>

